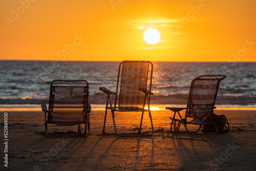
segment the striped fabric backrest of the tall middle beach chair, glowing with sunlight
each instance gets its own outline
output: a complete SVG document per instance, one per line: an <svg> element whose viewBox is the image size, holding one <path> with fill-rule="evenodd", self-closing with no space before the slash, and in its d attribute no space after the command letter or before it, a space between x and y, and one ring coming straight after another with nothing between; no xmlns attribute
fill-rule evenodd
<svg viewBox="0 0 256 171"><path fill-rule="evenodd" d="M120 110L144 109L146 96L140 90L151 91L152 75L153 63L151 61L122 61L118 70L114 108L116 109L118 98L118 109ZM150 103L150 95L148 103Z"/></svg>

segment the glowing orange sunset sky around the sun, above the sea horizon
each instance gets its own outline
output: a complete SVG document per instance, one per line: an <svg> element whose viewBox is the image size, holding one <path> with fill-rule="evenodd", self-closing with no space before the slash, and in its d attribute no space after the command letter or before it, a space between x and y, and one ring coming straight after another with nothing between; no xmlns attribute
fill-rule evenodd
<svg viewBox="0 0 256 171"><path fill-rule="evenodd" d="M256 61L255 0L8 0L0 11L2 60Z"/></svg>

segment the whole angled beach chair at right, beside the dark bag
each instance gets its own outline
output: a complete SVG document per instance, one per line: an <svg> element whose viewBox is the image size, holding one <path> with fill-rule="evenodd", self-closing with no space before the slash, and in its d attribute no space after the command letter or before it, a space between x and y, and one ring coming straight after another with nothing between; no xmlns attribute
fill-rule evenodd
<svg viewBox="0 0 256 171"><path fill-rule="evenodd" d="M212 120L214 114L215 101L219 90L221 80L226 78L226 75L202 75L195 78L191 82L190 91L188 95L186 108L166 108L174 112L173 117L169 117L172 120L170 124L170 131L174 127L175 133L179 133L181 123L184 125L186 131L190 134L216 134L218 128ZM180 111L186 110L185 118L182 118ZM178 113L180 119L175 118ZM214 123L216 132L214 133L198 133L202 128L202 125ZM188 124L198 125L197 131L189 131Z"/></svg>

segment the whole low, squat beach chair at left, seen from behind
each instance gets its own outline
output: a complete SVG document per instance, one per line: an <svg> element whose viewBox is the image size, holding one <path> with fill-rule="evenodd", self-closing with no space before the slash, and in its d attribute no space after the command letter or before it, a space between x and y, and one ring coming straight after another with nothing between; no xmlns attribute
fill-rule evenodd
<svg viewBox="0 0 256 171"><path fill-rule="evenodd" d="M41 109L45 112L46 135L49 137L89 136L91 105L88 103L88 96L89 84L86 80L53 80L50 87L49 109L46 104L41 104ZM47 132L49 123L63 126L78 125L77 134L75 132L50 134ZM83 133L81 133L81 124L85 125Z"/></svg>

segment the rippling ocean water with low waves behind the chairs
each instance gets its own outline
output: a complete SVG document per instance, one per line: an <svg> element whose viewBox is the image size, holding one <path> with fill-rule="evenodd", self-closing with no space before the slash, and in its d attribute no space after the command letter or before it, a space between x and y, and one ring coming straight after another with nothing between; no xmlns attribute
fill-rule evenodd
<svg viewBox="0 0 256 171"><path fill-rule="evenodd" d="M49 102L54 79L85 79L92 104L104 104L99 87L116 90L120 62L0 61L0 107ZM153 62L151 104L186 104L190 83L204 74L225 74L216 104L256 106L256 62Z"/></svg>

